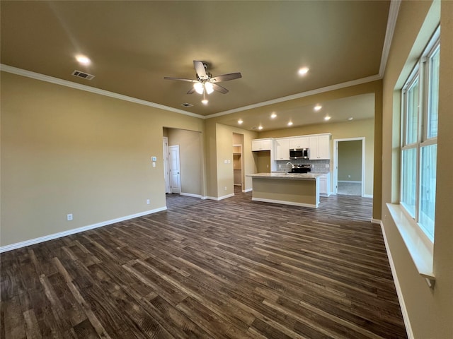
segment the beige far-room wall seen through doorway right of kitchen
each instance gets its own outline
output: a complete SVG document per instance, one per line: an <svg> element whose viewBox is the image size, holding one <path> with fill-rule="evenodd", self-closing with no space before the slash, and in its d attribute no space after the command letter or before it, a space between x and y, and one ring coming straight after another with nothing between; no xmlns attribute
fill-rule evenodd
<svg viewBox="0 0 453 339"><path fill-rule="evenodd" d="M362 181L362 141L352 140L338 143L338 180Z"/></svg>

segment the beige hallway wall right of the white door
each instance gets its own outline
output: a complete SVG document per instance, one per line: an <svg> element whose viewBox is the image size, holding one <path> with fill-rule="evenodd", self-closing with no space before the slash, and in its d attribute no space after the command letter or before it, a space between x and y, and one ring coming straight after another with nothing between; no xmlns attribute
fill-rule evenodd
<svg viewBox="0 0 453 339"><path fill-rule="evenodd" d="M181 193L202 194L202 136L200 132L166 129L168 145L179 145Z"/></svg>

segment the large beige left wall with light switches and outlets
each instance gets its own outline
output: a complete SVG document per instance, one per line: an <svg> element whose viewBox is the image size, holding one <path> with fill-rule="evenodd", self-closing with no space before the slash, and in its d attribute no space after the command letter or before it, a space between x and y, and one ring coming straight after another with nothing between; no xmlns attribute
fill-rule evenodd
<svg viewBox="0 0 453 339"><path fill-rule="evenodd" d="M166 206L163 126L204 131L202 119L1 72L1 246Z"/></svg>

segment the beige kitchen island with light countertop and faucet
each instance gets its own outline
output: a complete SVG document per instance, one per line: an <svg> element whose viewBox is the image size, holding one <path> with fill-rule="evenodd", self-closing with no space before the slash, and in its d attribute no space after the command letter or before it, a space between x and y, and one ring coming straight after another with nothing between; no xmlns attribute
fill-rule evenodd
<svg viewBox="0 0 453 339"><path fill-rule="evenodd" d="M310 173L256 173L252 178L252 200L318 208L319 177Z"/></svg>

